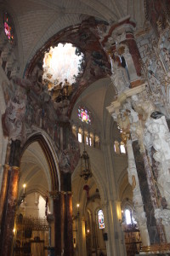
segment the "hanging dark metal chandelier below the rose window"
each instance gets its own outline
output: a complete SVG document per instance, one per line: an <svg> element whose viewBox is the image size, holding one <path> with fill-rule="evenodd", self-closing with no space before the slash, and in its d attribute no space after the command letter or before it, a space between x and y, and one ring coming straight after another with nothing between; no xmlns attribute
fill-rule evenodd
<svg viewBox="0 0 170 256"><path fill-rule="evenodd" d="M92 177L91 167L90 167L90 160L87 151L84 148L84 151L81 155L81 173L80 177L83 177L84 180L87 182L89 177Z"/></svg>

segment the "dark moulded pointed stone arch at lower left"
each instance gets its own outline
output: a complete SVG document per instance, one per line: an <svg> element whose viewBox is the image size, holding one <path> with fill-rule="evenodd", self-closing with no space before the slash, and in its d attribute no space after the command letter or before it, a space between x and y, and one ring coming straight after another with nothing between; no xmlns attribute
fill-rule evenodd
<svg viewBox="0 0 170 256"><path fill-rule="evenodd" d="M50 170L50 177L51 177L51 188L53 190L59 191L60 190L60 174L59 174L58 157L48 137L42 135L40 132L37 132L31 137L29 137L21 149L21 156L26 151L26 148L28 148L28 146L31 143L35 143L35 142L39 143L39 145L41 146L42 151L45 154L46 160L48 162L48 167Z"/></svg>

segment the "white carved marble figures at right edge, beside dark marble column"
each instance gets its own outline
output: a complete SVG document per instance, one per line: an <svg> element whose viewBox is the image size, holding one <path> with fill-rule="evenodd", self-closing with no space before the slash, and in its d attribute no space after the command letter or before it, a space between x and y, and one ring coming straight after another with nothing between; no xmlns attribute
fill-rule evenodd
<svg viewBox="0 0 170 256"><path fill-rule="evenodd" d="M156 149L153 157L159 163L157 185L161 196L166 198L167 205L170 206L170 132L167 122L162 116L160 119L148 119L145 126L146 147L149 151L152 146Z"/></svg>

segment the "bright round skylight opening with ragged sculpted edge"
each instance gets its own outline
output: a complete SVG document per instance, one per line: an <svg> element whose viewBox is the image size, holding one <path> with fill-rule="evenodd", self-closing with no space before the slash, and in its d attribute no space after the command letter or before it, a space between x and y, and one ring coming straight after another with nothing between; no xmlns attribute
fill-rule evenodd
<svg viewBox="0 0 170 256"><path fill-rule="evenodd" d="M82 73L82 60L84 55L72 44L61 44L50 47L43 59L44 83L48 83L48 90L58 84L64 86L65 79L68 84L74 84L77 76Z"/></svg>

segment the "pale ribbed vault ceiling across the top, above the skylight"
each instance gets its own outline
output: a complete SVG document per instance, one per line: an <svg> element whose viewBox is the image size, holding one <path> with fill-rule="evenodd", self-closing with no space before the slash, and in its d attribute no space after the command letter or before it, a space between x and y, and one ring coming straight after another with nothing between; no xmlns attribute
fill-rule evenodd
<svg viewBox="0 0 170 256"><path fill-rule="evenodd" d="M138 27L144 25L143 0L1 0L0 3L1 9L14 19L23 69L48 38L67 26L81 23L84 15L109 23L130 15Z"/></svg>

